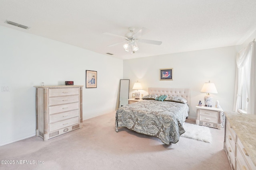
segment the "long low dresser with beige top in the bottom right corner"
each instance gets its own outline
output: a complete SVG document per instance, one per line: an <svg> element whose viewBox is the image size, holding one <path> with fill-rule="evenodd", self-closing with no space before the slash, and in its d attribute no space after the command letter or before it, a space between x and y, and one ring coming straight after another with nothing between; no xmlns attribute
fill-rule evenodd
<svg viewBox="0 0 256 170"><path fill-rule="evenodd" d="M256 115L225 112L224 147L233 170L256 170Z"/></svg>

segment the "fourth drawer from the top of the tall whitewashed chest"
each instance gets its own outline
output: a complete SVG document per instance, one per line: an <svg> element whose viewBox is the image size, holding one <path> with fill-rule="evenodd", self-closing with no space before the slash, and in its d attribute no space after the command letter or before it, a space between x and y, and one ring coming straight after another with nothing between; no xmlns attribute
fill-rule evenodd
<svg viewBox="0 0 256 170"><path fill-rule="evenodd" d="M56 121L62 121L64 119L70 119L72 117L79 116L79 110L72 110L64 113L58 113L54 115L50 115L49 123L53 123Z"/></svg>

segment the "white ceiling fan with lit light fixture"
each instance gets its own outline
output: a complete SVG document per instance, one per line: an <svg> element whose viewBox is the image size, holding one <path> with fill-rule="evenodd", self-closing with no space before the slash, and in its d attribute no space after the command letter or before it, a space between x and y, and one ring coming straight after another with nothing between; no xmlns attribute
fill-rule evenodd
<svg viewBox="0 0 256 170"><path fill-rule="evenodd" d="M125 39L125 41L122 41L119 43L114 43L114 44L108 45L107 47L112 47L112 46L124 43L124 45L123 45L124 50L129 52L129 50L131 49L131 54L133 54L133 53L135 53L135 51L139 50L136 42L148 43L148 44L153 44L153 45L161 45L162 44L162 41L154 41L154 40L149 40L149 39L138 38L148 31L148 29L146 29L145 27L142 27L142 29L140 29L136 33L134 33L134 30L135 30L134 27L129 27L128 30L129 30L128 33L126 33L124 36L115 35L112 33L103 33L105 35L111 35L111 36L116 36L116 37Z"/></svg>

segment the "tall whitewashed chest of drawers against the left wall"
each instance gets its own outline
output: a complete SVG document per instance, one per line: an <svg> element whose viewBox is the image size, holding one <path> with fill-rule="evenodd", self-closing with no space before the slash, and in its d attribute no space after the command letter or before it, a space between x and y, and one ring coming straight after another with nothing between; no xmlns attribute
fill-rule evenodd
<svg viewBox="0 0 256 170"><path fill-rule="evenodd" d="M36 88L36 136L47 141L82 127L82 87L34 86Z"/></svg>

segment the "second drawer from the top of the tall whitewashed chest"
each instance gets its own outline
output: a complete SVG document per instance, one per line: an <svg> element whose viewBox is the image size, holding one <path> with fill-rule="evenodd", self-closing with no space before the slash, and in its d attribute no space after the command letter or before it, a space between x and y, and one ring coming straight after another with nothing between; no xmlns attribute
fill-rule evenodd
<svg viewBox="0 0 256 170"><path fill-rule="evenodd" d="M63 96L49 98L49 106L79 102L79 96Z"/></svg>

